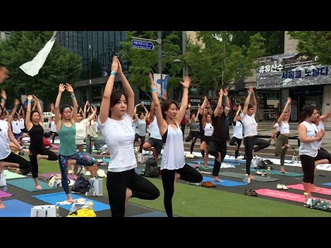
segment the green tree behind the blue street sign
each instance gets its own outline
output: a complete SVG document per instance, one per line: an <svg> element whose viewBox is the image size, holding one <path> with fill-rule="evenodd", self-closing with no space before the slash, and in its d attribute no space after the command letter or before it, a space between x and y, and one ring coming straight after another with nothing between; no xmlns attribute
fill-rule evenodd
<svg viewBox="0 0 331 248"><path fill-rule="evenodd" d="M169 74L168 89L177 88L180 85L179 81L181 81L181 78L177 75L183 68L183 65L173 63L174 59L177 59L179 54L181 54L179 34L181 32L163 32L162 35L162 72L163 74ZM132 48L132 37L157 40L157 31L126 32L127 41L121 42L121 59L128 61L128 69L129 73L131 73L130 83L133 83L145 92L149 92L148 73L151 70L158 73L157 44L154 44L155 48L152 51Z"/></svg>

